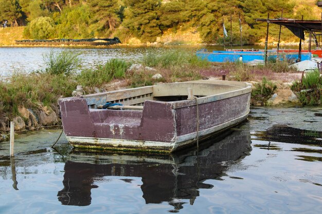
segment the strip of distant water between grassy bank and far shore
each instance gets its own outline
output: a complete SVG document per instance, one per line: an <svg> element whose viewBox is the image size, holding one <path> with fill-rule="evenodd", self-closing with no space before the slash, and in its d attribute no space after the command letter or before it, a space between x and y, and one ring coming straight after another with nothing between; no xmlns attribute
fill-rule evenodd
<svg viewBox="0 0 322 214"><path fill-rule="evenodd" d="M244 48L263 48L260 46L243 46ZM109 48L63 48L63 47L0 47L0 76L10 76L14 71L31 72L46 67L44 55L63 50L71 50L80 54L82 68L91 68L96 64L104 64L110 59L123 59L140 62L142 57L151 49L156 53L169 49L187 49L195 51L206 48L208 50L223 50L223 46L162 46L162 47L127 47L111 46ZM234 46L239 48L239 46Z"/></svg>

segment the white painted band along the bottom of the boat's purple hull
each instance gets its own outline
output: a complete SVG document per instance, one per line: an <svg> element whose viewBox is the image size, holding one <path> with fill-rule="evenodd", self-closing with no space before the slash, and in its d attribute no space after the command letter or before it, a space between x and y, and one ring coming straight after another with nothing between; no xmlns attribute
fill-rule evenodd
<svg viewBox="0 0 322 214"><path fill-rule="evenodd" d="M240 116L237 119L222 123L220 125L200 130L199 138L202 139L211 133L219 132L228 127L234 126L247 118L249 111ZM110 138L90 138L90 137L69 137L66 136L68 142L74 145L75 147L80 147L79 145L86 145L97 147L102 145L102 147L115 147L118 149L121 148L151 148L152 150L164 150L164 151L175 151L183 146L189 145L192 142L196 141L196 132L181 135L175 138L174 142L160 142L160 141L138 141L138 140L123 140L123 139L110 139Z"/></svg>

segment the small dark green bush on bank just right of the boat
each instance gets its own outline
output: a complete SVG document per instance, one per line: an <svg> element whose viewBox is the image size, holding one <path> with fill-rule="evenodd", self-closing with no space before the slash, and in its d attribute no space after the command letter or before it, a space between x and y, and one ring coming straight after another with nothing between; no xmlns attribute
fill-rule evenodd
<svg viewBox="0 0 322 214"><path fill-rule="evenodd" d="M266 77L263 77L262 82L255 85L255 89L252 89L252 99L260 101L264 105L267 99L271 98L277 86L268 81Z"/></svg>

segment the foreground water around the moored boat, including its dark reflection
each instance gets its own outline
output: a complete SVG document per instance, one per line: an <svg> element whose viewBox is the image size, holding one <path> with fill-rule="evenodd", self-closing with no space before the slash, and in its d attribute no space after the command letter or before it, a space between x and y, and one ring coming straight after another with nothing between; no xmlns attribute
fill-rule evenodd
<svg viewBox="0 0 322 214"><path fill-rule="evenodd" d="M0 143L0 213L321 213L322 108L252 108L172 155L73 150L61 130Z"/></svg>

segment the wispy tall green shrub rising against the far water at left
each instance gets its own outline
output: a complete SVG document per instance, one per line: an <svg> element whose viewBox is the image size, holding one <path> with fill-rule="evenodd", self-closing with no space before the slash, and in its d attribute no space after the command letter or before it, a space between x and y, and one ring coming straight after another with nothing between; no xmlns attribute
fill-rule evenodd
<svg viewBox="0 0 322 214"><path fill-rule="evenodd" d="M80 68L80 53L75 51L64 50L61 52L50 51L45 54L44 62L46 64L46 73L70 75Z"/></svg>

